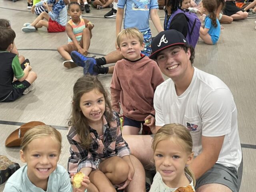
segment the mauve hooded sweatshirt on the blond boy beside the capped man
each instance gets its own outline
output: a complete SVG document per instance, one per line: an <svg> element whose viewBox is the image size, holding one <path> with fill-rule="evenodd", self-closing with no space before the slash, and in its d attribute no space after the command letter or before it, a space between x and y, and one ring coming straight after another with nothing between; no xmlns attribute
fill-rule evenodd
<svg viewBox="0 0 256 192"><path fill-rule="evenodd" d="M116 62L110 84L112 109L136 121L155 115L153 98L156 87L164 82L154 60L142 55L136 61L122 59Z"/></svg>

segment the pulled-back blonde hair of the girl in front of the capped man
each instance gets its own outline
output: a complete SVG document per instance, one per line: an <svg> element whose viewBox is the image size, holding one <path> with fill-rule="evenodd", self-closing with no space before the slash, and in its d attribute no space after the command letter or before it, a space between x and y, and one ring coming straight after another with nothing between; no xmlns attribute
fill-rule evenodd
<svg viewBox="0 0 256 192"><path fill-rule="evenodd" d="M167 140L170 138L178 139L178 142L182 145L187 154L192 153L192 137L189 130L181 124L171 123L162 126L154 135L154 140L152 142L152 148L155 152L157 144L162 140ZM196 185L196 178L193 172L186 166L184 171L192 178L194 186Z"/></svg>

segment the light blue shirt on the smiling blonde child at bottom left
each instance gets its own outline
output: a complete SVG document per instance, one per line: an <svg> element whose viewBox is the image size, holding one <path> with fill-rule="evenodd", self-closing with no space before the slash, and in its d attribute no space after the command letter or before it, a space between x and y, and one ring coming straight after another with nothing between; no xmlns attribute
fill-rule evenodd
<svg viewBox="0 0 256 192"><path fill-rule="evenodd" d="M25 165L12 174L4 186L4 192L45 192L32 184L27 170ZM46 192L72 192L68 172L61 165L57 165L56 170L50 174Z"/></svg>

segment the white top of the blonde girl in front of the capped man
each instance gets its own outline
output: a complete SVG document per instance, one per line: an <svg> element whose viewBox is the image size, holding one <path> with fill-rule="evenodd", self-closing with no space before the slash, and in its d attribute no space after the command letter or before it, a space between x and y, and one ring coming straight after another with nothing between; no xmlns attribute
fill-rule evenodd
<svg viewBox="0 0 256 192"><path fill-rule="evenodd" d="M193 180L192 178L185 173L188 180L190 181L190 184L188 186L191 186L192 189L195 191L194 185L193 185ZM187 186L184 186L187 187ZM170 188L168 187L162 180L162 176L160 175L159 172L156 172L156 175L154 176L153 183L150 187L149 192L175 192L178 188Z"/></svg>

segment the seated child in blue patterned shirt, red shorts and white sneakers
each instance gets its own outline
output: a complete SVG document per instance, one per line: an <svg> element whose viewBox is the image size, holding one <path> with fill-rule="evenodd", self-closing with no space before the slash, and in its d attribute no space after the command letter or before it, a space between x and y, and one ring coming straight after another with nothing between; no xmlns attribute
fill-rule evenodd
<svg viewBox="0 0 256 192"><path fill-rule="evenodd" d="M52 7L48 4L52 4ZM42 28L42 26L47 27L49 33L65 31L68 15L64 0L40 1L35 6L38 7L42 5L44 9L48 10L48 13L42 12L32 23L25 23L22 31L35 32L37 28ZM44 19L46 19L46 21Z"/></svg>

